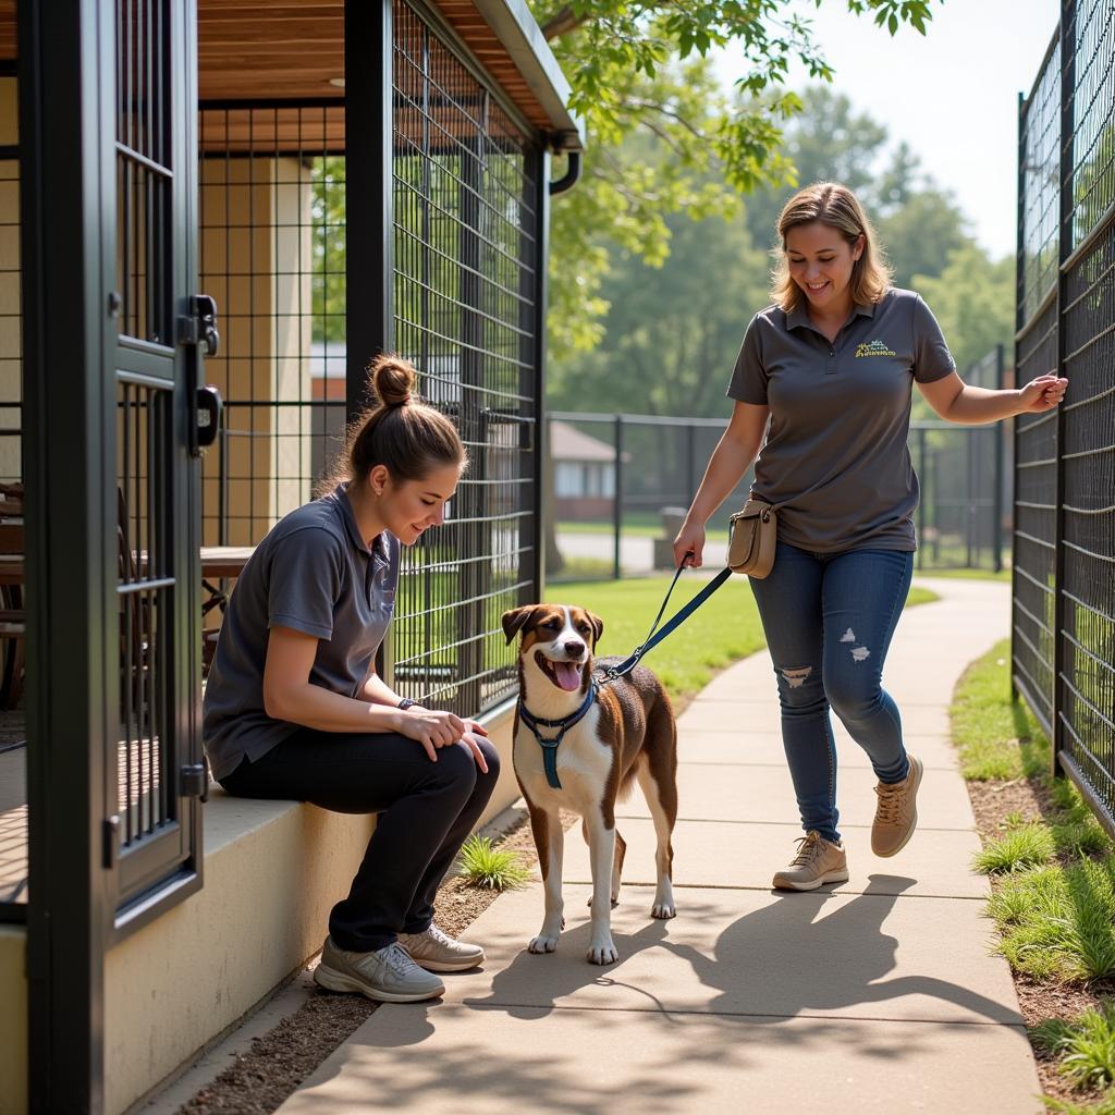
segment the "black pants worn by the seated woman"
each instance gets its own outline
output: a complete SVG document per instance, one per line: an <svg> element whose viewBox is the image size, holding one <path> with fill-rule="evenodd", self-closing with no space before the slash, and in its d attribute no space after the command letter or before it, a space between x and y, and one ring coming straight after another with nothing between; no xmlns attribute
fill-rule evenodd
<svg viewBox="0 0 1115 1115"><path fill-rule="evenodd" d="M244 759L221 785L240 797L310 802L337 813L379 813L349 895L333 906L338 948L370 952L434 918L437 885L484 812L500 756L481 740L484 774L464 744L432 763L405 736L301 728L255 763Z"/></svg>

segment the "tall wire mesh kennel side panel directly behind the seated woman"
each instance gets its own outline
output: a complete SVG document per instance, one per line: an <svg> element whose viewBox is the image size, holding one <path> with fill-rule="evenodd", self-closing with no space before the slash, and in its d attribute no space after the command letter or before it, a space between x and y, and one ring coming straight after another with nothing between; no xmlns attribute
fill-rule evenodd
<svg viewBox="0 0 1115 1115"><path fill-rule="evenodd" d="M514 690L500 617L535 588L536 182L526 129L406 3L392 84L395 347L469 455L445 526L405 553L394 681L472 714Z"/></svg>

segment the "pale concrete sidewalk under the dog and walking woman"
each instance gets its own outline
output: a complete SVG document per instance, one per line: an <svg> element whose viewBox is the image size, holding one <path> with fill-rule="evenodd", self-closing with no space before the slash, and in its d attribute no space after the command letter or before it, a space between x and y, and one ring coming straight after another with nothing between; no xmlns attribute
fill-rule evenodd
<svg viewBox="0 0 1115 1115"><path fill-rule="evenodd" d="M484 970L447 977L433 1005L381 1007L283 1115L1043 1111L1014 983L990 952L988 886L968 870L978 838L948 740L957 679L1007 633L1008 589L922 583L942 601L903 618L886 671L927 766L918 833L895 859L871 855L874 778L838 729L851 879L769 889L799 830L770 662L756 655L680 721L673 921L649 915L653 833L637 789L618 821L619 963L584 960L588 855L571 830L556 953L525 951L541 884L501 896L468 933Z"/></svg>

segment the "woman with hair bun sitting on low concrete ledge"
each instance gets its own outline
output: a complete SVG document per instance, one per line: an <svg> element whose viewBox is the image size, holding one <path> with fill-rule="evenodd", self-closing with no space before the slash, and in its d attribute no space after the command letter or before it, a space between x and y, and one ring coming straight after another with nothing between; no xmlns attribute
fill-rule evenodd
<svg viewBox="0 0 1115 1115"><path fill-rule="evenodd" d="M379 357L370 379L379 405L350 430L347 476L282 518L236 582L204 737L230 794L380 814L314 979L411 1002L445 990L434 972L484 959L434 924L434 895L500 759L478 724L400 699L376 675L399 546L440 525L466 456L453 424L413 397L410 363Z"/></svg>

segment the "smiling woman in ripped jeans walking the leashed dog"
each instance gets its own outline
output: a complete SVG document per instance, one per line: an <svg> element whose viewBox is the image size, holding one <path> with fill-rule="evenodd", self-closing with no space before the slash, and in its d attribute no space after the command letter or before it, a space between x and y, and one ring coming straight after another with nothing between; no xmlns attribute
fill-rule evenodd
<svg viewBox="0 0 1115 1115"><path fill-rule="evenodd" d="M847 187L799 191L778 234L775 304L747 327L728 387L731 420L673 553L678 563L691 553L701 564L705 524L754 460L752 494L778 506L778 544L769 575L750 585L805 830L774 886L807 891L849 878L830 708L879 779L875 855L899 852L918 821L922 764L906 753L899 710L882 688L913 573L912 385L942 418L978 424L1049 410L1067 380L1048 375L1000 391L964 384L929 307L890 285Z"/></svg>

